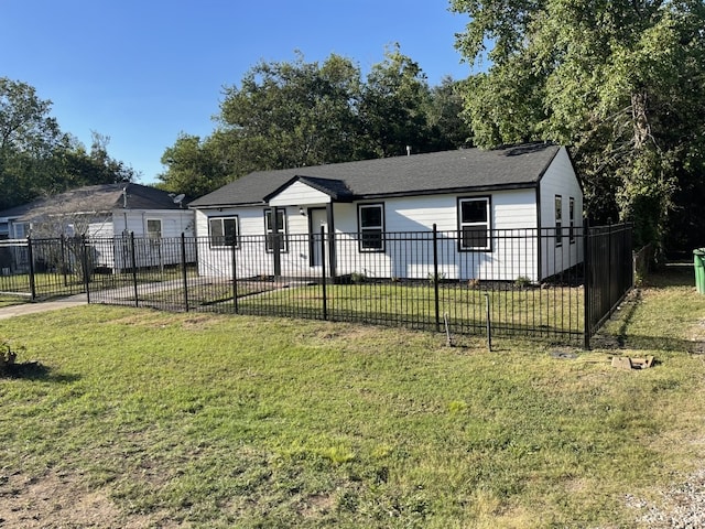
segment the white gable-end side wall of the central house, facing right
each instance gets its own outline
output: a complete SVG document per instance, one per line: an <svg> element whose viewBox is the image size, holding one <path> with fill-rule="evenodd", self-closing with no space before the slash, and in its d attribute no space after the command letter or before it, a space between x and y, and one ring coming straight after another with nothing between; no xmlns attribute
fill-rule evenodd
<svg viewBox="0 0 705 529"><path fill-rule="evenodd" d="M583 262L583 240L577 237L570 241L571 226L570 202L575 199L575 227L583 233L583 191L573 170L573 164L565 148L561 148L553 163L547 169L540 184L541 225L543 228L555 228L555 197L561 196L563 237L561 246L556 246L554 237L545 237L541 241L541 279L554 276L577 263ZM551 233L552 230L544 233Z"/></svg>

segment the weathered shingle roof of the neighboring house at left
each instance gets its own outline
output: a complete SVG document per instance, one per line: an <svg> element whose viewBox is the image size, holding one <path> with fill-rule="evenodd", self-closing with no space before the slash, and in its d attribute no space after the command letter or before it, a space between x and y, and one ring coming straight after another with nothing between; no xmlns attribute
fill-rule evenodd
<svg viewBox="0 0 705 529"><path fill-rule="evenodd" d="M132 183L88 185L30 204L20 220L30 222L46 215L68 213L105 214L122 208L178 209L180 206L165 191L145 185Z"/></svg>

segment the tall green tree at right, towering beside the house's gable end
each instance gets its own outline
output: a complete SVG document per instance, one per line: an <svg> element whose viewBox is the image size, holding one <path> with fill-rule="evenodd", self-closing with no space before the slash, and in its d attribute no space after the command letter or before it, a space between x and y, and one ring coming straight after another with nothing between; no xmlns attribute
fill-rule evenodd
<svg viewBox="0 0 705 529"><path fill-rule="evenodd" d="M703 2L451 4L470 15L458 48L490 64L466 93L475 140L571 145L588 213L668 246L677 190L703 185Z"/></svg>

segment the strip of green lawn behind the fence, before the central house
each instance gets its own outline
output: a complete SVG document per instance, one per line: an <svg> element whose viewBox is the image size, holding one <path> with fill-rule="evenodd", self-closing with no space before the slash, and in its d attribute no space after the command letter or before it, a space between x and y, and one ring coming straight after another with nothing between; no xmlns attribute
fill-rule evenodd
<svg viewBox="0 0 705 529"><path fill-rule="evenodd" d="M326 288L327 314L334 321L395 324L416 327L436 325L434 289L430 284L334 284ZM488 298L486 298L486 295ZM451 330L463 334L484 334L489 301L490 322L496 334L583 336L582 288L530 288L476 290L463 283L438 289L438 316L448 316ZM273 290L239 301L241 312L310 314L323 317L323 289L304 285ZM570 341L570 338L566 338Z"/></svg>

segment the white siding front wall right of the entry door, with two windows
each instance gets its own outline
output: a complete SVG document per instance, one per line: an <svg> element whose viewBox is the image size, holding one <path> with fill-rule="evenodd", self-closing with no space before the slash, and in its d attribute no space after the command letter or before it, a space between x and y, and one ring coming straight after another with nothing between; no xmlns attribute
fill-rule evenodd
<svg viewBox="0 0 705 529"><path fill-rule="evenodd" d="M384 204L384 227L395 239L409 239L412 233L431 231L436 225L441 242L438 273L446 279L510 280L520 276L538 280L536 241L525 239L527 228L536 227L535 192L517 190L495 193L490 197L491 228L498 237L492 251L458 251L457 201L478 195L437 195L370 201ZM378 278L426 279L433 274L433 253L414 240L389 241L384 252L359 251L352 236L357 234L357 204L335 204L335 228L340 244L337 273L362 273Z"/></svg>

